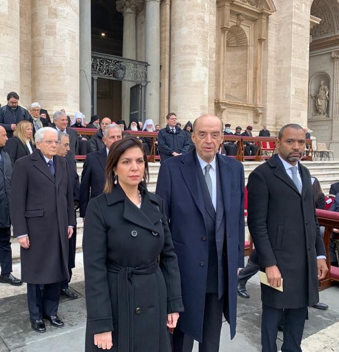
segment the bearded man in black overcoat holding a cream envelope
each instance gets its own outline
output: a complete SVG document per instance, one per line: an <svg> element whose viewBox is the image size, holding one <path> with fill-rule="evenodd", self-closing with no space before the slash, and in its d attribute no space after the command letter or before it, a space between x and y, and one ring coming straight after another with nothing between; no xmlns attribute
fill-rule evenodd
<svg viewBox="0 0 339 352"><path fill-rule="evenodd" d="M261 284L261 344L262 352L277 351L283 314L281 351L301 352L307 306L319 302L318 280L328 269L311 176L299 163L305 149L303 128L283 126L276 145L279 154L258 166L247 184L247 224L270 284ZM282 292L274 289L281 285Z"/></svg>

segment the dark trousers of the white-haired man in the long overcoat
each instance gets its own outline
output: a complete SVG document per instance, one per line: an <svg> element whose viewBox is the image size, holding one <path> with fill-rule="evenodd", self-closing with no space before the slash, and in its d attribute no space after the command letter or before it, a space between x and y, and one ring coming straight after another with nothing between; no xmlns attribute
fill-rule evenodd
<svg viewBox="0 0 339 352"><path fill-rule="evenodd" d="M57 315L61 283L42 285L27 284L27 304L31 319L40 320L43 315Z"/></svg>

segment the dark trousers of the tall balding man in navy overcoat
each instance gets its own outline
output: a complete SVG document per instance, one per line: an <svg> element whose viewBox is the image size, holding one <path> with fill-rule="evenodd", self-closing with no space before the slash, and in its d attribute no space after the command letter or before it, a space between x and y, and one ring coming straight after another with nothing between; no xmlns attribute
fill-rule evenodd
<svg viewBox="0 0 339 352"><path fill-rule="evenodd" d="M202 342L199 352L219 352L222 324L223 297L218 293L206 293L202 327ZM173 352L192 352L194 339L185 335L179 328L173 332Z"/></svg>

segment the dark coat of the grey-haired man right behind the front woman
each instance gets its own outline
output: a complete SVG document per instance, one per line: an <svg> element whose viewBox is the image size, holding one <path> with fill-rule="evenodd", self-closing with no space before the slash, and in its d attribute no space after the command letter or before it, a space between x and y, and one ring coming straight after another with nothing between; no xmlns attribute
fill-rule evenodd
<svg viewBox="0 0 339 352"><path fill-rule="evenodd" d="M80 217L85 217L87 203L99 196L105 186L106 148L89 153L83 164L80 183Z"/></svg>

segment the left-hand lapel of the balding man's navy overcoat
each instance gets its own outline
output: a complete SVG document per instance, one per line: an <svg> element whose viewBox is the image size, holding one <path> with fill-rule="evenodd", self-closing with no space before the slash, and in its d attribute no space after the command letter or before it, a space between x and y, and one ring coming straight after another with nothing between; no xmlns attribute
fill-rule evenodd
<svg viewBox="0 0 339 352"><path fill-rule="evenodd" d="M182 165L180 171L182 178L189 189L194 203L198 207L203 218L205 218L204 202L202 197L202 191L199 184L198 174L195 170L195 151L188 153L181 160Z"/></svg>

